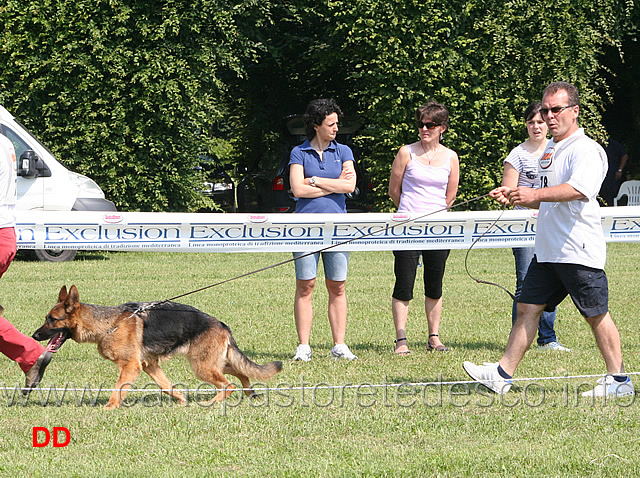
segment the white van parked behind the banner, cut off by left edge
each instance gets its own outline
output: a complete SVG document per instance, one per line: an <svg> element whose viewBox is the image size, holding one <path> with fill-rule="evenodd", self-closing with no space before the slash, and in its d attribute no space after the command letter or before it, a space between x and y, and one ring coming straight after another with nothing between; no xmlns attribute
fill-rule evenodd
<svg viewBox="0 0 640 478"><path fill-rule="evenodd" d="M18 158L17 210L116 211L91 179L69 171L0 105L0 133L11 140ZM76 250L35 250L42 261L70 261Z"/></svg>

